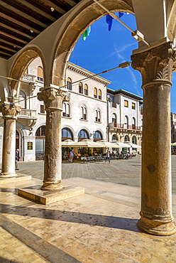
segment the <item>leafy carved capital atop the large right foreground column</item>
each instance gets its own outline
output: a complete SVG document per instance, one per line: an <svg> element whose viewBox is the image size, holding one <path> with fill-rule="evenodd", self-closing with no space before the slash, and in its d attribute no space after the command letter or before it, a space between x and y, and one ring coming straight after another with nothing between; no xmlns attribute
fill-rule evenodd
<svg viewBox="0 0 176 263"><path fill-rule="evenodd" d="M172 85L172 68L176 60L172 43L164 43L143 53L131 55L131 60L132 67L141 72L143 85L153 81Z"/></svg>

